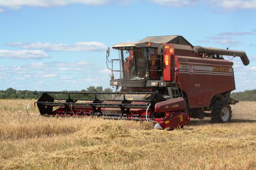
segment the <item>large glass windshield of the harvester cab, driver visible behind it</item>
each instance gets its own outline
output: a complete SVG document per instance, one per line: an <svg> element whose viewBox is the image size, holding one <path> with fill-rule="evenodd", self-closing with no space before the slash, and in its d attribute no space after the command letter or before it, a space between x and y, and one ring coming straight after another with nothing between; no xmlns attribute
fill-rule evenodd
<svg viewBox="0 0 256 170"><path fill-rule="evenodd" d="M148 71L152 70L151 67L156 66L156 58L156 48L119 50L120 78L130 80L142 80L148 78ZM156 72L150 72L149 74L151 77L152 74L156 74Z"/></svg>

